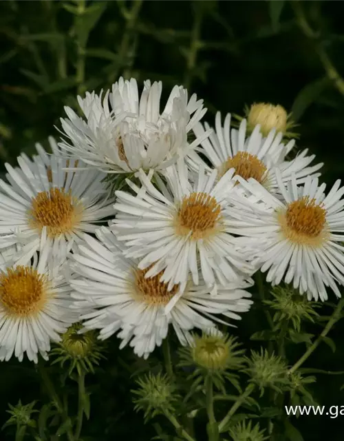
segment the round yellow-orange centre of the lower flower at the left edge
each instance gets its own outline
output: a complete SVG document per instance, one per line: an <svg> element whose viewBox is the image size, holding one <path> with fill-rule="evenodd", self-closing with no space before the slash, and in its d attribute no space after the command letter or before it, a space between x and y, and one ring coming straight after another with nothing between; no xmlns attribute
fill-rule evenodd
<svg viewBox="0 0 344 441"><path fill-rule="evenodd" d="M32 267L8 269L0 275L0 302L12 316L39 313L47 300L47 279Z"/></svg>

